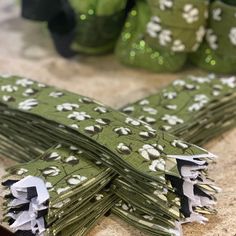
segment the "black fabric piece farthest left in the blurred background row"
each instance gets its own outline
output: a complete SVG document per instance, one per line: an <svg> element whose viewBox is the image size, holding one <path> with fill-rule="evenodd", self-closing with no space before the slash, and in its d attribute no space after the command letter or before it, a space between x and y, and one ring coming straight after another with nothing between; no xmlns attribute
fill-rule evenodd
<svg viewBox="0 0 236 236"><path fill-rule="evenodd" d="M61 0L22 0L22 17L35 21L48 21L61 9Z"/></svg>

